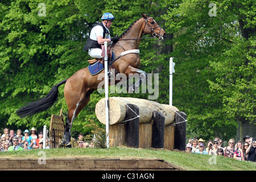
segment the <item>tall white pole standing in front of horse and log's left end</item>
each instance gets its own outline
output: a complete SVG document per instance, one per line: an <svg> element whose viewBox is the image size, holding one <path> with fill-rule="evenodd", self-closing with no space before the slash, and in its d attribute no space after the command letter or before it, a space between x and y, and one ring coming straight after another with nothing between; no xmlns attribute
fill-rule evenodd
<svg viewBox="0 0 256 182"><path fill-rule="evenodd" d="M109 148L109 77L108 77L108 42L104 42L105 47L105 61L104 61L104 68L105 68L105 113L106 113L106 147Z"/></svg>

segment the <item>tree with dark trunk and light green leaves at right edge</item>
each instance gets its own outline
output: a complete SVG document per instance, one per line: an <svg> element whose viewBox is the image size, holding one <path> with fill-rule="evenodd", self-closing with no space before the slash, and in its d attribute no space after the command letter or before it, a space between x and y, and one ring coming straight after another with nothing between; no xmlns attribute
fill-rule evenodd
<svg viewBox="0 0 256 182"><path fill-rule="evenodd" d="M230 49L225 49L216 63L216 81L209 81L213 92L221 94L224 112L238 123L237 139L256 135L255 107L255 3L233 1L241 36L234 36Z"/></svg>

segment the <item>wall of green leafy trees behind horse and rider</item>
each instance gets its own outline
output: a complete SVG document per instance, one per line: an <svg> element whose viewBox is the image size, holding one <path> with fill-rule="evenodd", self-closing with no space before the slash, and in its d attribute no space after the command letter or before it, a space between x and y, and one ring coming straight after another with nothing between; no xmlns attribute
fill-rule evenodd
<svg viewBox="0 0 256 182"><path fill-rule="evenodd" d="M39 16L46 5L46 16ZM210 3L216 5L216 16ZM0 128L42 130L61 108L60 86L51 109L20 119L15 111L38 100L53 85L87 67L82 48L93 25L105 12L116 18L112 36L121 35L141 12L154 17L167 32L163 41L142 40L141 68L159 73L161 104L169 104L169 59L174 57L173 105L187 114L187 137L242 140L256 137L255 32L253 0L2 0L0 2ZM120 94L110 94L120 96ZM121 94L147 98L147 94ZM72 135L89 133L88 119L104 93L94 92L72 127ZM99 122L97 122L100 125ZM104 127L104 126L102 126Z"/></svg>

